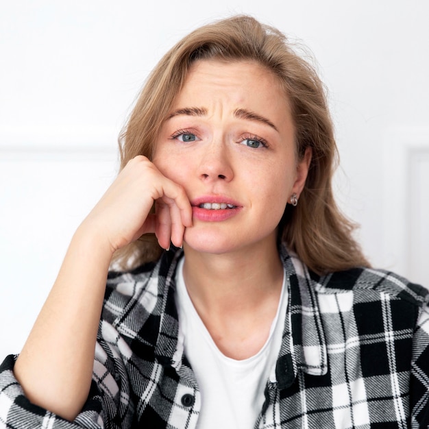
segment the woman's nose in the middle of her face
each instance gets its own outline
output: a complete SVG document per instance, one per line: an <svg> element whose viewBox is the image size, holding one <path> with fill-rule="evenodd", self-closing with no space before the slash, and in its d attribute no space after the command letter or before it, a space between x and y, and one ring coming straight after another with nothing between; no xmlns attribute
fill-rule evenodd
<svg viewBox="0 0 429 429"><path fill-rule="evenodd" d="M230 182L232 180L234 171L227 143L218 141L206 145L199 162L199 177L206 182L217 180Z"/></svg>

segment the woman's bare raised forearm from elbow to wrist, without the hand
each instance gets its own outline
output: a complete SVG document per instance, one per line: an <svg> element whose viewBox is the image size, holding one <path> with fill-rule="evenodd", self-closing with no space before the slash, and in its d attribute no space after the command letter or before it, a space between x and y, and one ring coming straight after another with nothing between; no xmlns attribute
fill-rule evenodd
<svg viewBox="0 0 429 429"><path fill-rule="evenodd" d="M70 420L88 397L112 257L110 248L83 229L73 236L14 369L30 401Z"/></svg>

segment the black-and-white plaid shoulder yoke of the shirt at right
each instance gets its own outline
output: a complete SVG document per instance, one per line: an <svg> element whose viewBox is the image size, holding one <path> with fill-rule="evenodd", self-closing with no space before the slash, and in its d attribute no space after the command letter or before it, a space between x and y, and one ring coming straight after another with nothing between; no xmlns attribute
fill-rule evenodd
<svg viewBox="0 0 429 429"><path fill-rule="evenodd" d="M429 301L429 291L424 286L383 269L356 267L320 278L312 275L312 278L319 293L353 291L362 295L387 295L419 307Z"/></svg>

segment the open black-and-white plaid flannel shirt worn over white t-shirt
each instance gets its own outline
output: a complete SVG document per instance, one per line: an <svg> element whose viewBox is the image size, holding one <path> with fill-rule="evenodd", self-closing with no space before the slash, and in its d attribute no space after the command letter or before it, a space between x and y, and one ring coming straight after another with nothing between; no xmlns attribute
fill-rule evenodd
<svg viewBox="0 0 429 429"><path fill-rule="evenodd" d="M173 250L110 274L93 384L75 421L31 404L8 356L0 427L195 428L201 395L174 301L180 256ZM276 380L267 382L255 428L428 428L428 291L374 269L320 278L285 249L281 256L289 304Z"/></svg>

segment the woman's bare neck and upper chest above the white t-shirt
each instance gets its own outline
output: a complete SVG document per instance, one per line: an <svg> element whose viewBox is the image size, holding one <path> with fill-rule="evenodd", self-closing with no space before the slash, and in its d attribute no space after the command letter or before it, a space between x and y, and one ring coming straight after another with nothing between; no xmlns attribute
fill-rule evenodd
<svg viewBox="0 0 429 429"><path fill-rule="evenodd" d="M184 281L219 350L244 359L264 345L278 309L283 267L275 245L227 255L184 245Z"/></svg>

